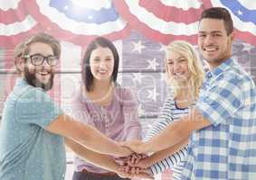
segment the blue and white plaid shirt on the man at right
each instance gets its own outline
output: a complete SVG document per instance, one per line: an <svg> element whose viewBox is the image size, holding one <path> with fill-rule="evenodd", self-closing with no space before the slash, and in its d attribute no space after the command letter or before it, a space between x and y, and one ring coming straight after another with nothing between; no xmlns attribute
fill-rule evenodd
<svg viewBox="0 0 256 180"><path fill-rule="evenodd" d="M256 89L231 58L208 72L195 107L212 122L191 136L182 179L256 179Z"/></svg>

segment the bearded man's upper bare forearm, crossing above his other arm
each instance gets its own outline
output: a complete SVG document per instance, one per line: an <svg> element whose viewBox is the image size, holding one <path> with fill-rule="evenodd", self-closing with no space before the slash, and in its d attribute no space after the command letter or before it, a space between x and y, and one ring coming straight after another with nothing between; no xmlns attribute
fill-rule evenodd
<svg viewBox="0 0 256 180"><path fill-rule="evenodd" d="M100 133L99 130L80 121L75 121L68 115L59 116L57 120L51 123L48 130L102 154L122 157L131 153L128 148L120 147L114 140Z"/></svg>

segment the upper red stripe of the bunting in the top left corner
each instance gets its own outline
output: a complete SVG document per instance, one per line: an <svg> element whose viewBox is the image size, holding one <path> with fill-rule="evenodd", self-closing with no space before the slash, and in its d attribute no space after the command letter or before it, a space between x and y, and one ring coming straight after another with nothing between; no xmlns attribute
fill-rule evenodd
<svg viewBox="0 0 256 180"><path fill-rule="evenodd" d="M24 5L24 0L20 1L16 9L9 9L3 11L0 9L0 19L1 23L9 24L15 22L22 22L27 15L27 9Z"/></svg>

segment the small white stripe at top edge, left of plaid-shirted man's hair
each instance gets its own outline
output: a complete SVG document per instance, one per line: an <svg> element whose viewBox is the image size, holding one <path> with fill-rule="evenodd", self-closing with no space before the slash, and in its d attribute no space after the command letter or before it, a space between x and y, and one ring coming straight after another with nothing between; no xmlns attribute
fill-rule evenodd
<svg viewBox="0 0 256 180"><path fill-rule="evenodd" d="M189 8L200 8L201 2L198 0L160 0L162 4L165 4L166 6L175 6L176 8L183 9L187 11Z"/></svg>

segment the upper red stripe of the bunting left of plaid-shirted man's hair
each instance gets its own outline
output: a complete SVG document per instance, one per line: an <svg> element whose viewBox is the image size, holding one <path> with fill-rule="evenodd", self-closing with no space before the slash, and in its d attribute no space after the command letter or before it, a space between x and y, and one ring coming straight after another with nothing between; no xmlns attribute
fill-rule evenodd
<svg viewBox="0 0 256 180"><path fill-rule="evenodd" d="M150 1L150 3L148 0L140 0L139 5L147 9L149 13L156 15L156 17L166 22L186 24L197 22L204 9L213 6L209 0L203 0L198 9L189 8L187 11L176 8L175 6L166 6L157 0Z"/></svg>

